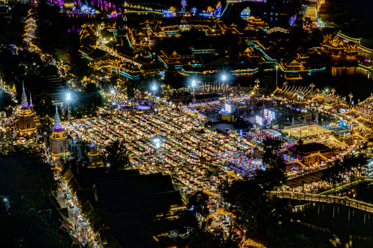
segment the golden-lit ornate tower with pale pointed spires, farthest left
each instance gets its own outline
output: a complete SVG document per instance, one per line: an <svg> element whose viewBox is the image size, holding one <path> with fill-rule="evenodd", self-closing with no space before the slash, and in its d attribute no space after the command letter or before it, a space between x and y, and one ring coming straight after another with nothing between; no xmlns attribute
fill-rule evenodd
<svg viewBox="0 0 373 248"><path fill-rule="evenodd" d="M30 105L28 104L25 87L22 87L22 102L21 108L19 109L15 125L17 127L17 133L19 135L31 136L37 134L37 127L40 127L39 118L34 111L34 105L32 105L30 95Z"/></svg>

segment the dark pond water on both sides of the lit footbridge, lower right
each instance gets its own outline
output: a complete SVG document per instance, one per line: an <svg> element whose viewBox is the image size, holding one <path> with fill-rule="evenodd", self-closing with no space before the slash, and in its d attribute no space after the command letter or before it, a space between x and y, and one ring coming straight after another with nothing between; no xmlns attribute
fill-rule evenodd
<svg viewBox="0 0 373 248"><path fill-rule="evenodd" d="M351 189L347 191L351 192ZM373 185L357 185L354 192L354 198L373 203ZM293 220L296 231L303 231L316 242L332 245L335 240L340 240L341 245L336 247L348 247L346 243L352 242L350 247L373 248L373 214L344 206L312 203L294 211Z"/></svg>

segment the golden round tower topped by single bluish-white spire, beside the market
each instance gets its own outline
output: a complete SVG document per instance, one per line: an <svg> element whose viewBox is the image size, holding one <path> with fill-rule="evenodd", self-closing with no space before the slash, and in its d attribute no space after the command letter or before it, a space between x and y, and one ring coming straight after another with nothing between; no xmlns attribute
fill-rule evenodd
<svg viewBox="0 0 373 248"><path fill-rule="evenodd" d="M61 119L59 118L57 105L55 114L55 126L53 132L49 136L50 138L50 155L55 165L59 165L59 158L61 156L70 156L68 151L68 136L65 134L65 130L61 127Z"/></svg>

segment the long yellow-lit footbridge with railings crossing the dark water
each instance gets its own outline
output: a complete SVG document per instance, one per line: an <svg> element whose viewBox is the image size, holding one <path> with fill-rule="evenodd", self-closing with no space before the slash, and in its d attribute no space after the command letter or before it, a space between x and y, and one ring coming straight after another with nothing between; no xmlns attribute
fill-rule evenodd
<svg viewBox="0 0 373 248"><path fill-rule="evenodd" d="M352 207L367 213L373 214L373 204L365 203L361 200L354 200L347 196L323 196L319 194L304 194L298 192L269 192L278 198L285 198L291 200L304 200L312 203L327 203L334 205L343 205L345 207Z"/></svg>

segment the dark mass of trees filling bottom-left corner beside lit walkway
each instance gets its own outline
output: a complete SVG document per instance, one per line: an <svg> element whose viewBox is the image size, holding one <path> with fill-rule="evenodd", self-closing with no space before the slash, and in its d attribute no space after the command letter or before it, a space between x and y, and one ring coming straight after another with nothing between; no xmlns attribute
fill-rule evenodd
<svg viewBox="0 0 373 248"><path fill-rule="evenodd" d="M0 165L0 196L8 199L7 208L0 202L1 247L66 247L43 211L57 189L52 167L24 147L2 154Z"/></svg>

